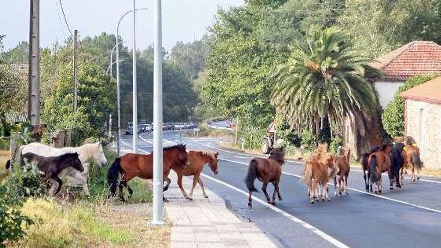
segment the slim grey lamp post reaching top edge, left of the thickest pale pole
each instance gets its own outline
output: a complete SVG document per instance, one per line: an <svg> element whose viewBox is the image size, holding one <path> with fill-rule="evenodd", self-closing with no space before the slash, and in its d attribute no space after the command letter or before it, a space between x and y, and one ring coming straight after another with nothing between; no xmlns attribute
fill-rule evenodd
<svg viewBox="0 0 441 248"><path fill-rule="evenodd" d="M138 150L138 86L136 84L136 6L133 0L133 153Z"/></svg>

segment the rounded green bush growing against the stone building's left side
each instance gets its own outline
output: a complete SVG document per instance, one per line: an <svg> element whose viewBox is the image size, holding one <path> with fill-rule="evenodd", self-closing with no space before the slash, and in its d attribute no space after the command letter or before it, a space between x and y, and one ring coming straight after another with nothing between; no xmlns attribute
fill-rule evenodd
<svg viewBox="0 0 441 248"><path fill-rule="evenodd" d="M418 75L409 78L401 85L393 96L392 101L386 106L383 112L383 126L386 132L392 137L404 136L405 102L400 96L401 92L423 84L436 78L436 75Z"/></svg>

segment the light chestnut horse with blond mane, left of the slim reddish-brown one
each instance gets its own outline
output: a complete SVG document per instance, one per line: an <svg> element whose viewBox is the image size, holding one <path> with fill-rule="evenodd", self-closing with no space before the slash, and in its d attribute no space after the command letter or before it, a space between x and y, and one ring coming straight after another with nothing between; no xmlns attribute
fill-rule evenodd
<svg viewBox="0 0 441 248"><path fill-rule="evenodd" d="M320 157L311 156L306 160L303 180L307 184L311 204L314 203L314 199L318 201L320 197L323 201L330 200L328 180L334 178L338 172L338 168L334 167L332 160L332 154L329 152ZM328 173L328 169L331 169L330 173Z"/></svg>

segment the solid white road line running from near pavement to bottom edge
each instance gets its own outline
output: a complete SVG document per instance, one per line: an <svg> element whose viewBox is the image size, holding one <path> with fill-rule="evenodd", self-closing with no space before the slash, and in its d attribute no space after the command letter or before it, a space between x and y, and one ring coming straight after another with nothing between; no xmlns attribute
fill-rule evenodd
<svg viewBox="0 0 441 248"><path fill-rule="evenodd" d="M233 190L235 190L235 191L245 195L246 197L248 197L248 193L247 192L245 192L245 191L243 191L243 190L241 190L241 189L239 189L239 188L237 188L237 187L235 187L233 185L230 185L230 184L228 184L226 182L220 181L220 180L218 180L216 178L213 178L211 176L208 176L206 174L203 174L203 173L201 173L201 174L202 174L202 176L204 176L204 177L206 177L206 178L208 178L208 179L210 179L212 181L215 181L215 182L217 182L219 184L222 184L222 185L224 185L224 186L226 186L226 187L228 187L230 189L233 189ZM264 205L264 206L266 206L268 208L270 208L271 210L275 211L276 213L279 213L279 214L287 217L291 221L296 222L296 223L302 225L304 228L314 232L315 234L319 235L321 238L323 238L326 241L332 243L333 245L335 245L335 246L337 246L339 248L348 248L349 247L349 246L345 245L344 243L338 241L337 239L331 237L330 235L324 233L323 231L317 229L316 227L306 223L305 221L303 221L303 220L301 220L301 219L299 219L297 217L294 217L293 215L291 215L291 214L289 214L289 213L287 213L287 212L285 212L285 211L283 211L283 210L281 210L281 209L279 209L279 208L277 208L275 206L272 206L272 205L268 204L267 202L265 202L265 201L255 197L255 196L252 196L252 198L253 198L254 201L256 201L256 202L258 202L258 203L260 203L260 204L262 204L262 205Z"/></svg>

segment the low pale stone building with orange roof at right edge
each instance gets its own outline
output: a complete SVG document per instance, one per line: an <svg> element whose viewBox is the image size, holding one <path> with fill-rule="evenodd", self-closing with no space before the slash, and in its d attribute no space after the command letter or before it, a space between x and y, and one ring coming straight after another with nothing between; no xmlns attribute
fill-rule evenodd
<svg viewBox="0 0 441 248"><path fill-rule="evenodd" d="M405 99L405 135L412 136L424 166L441 169L441 77L409 89Z"/></svg>

